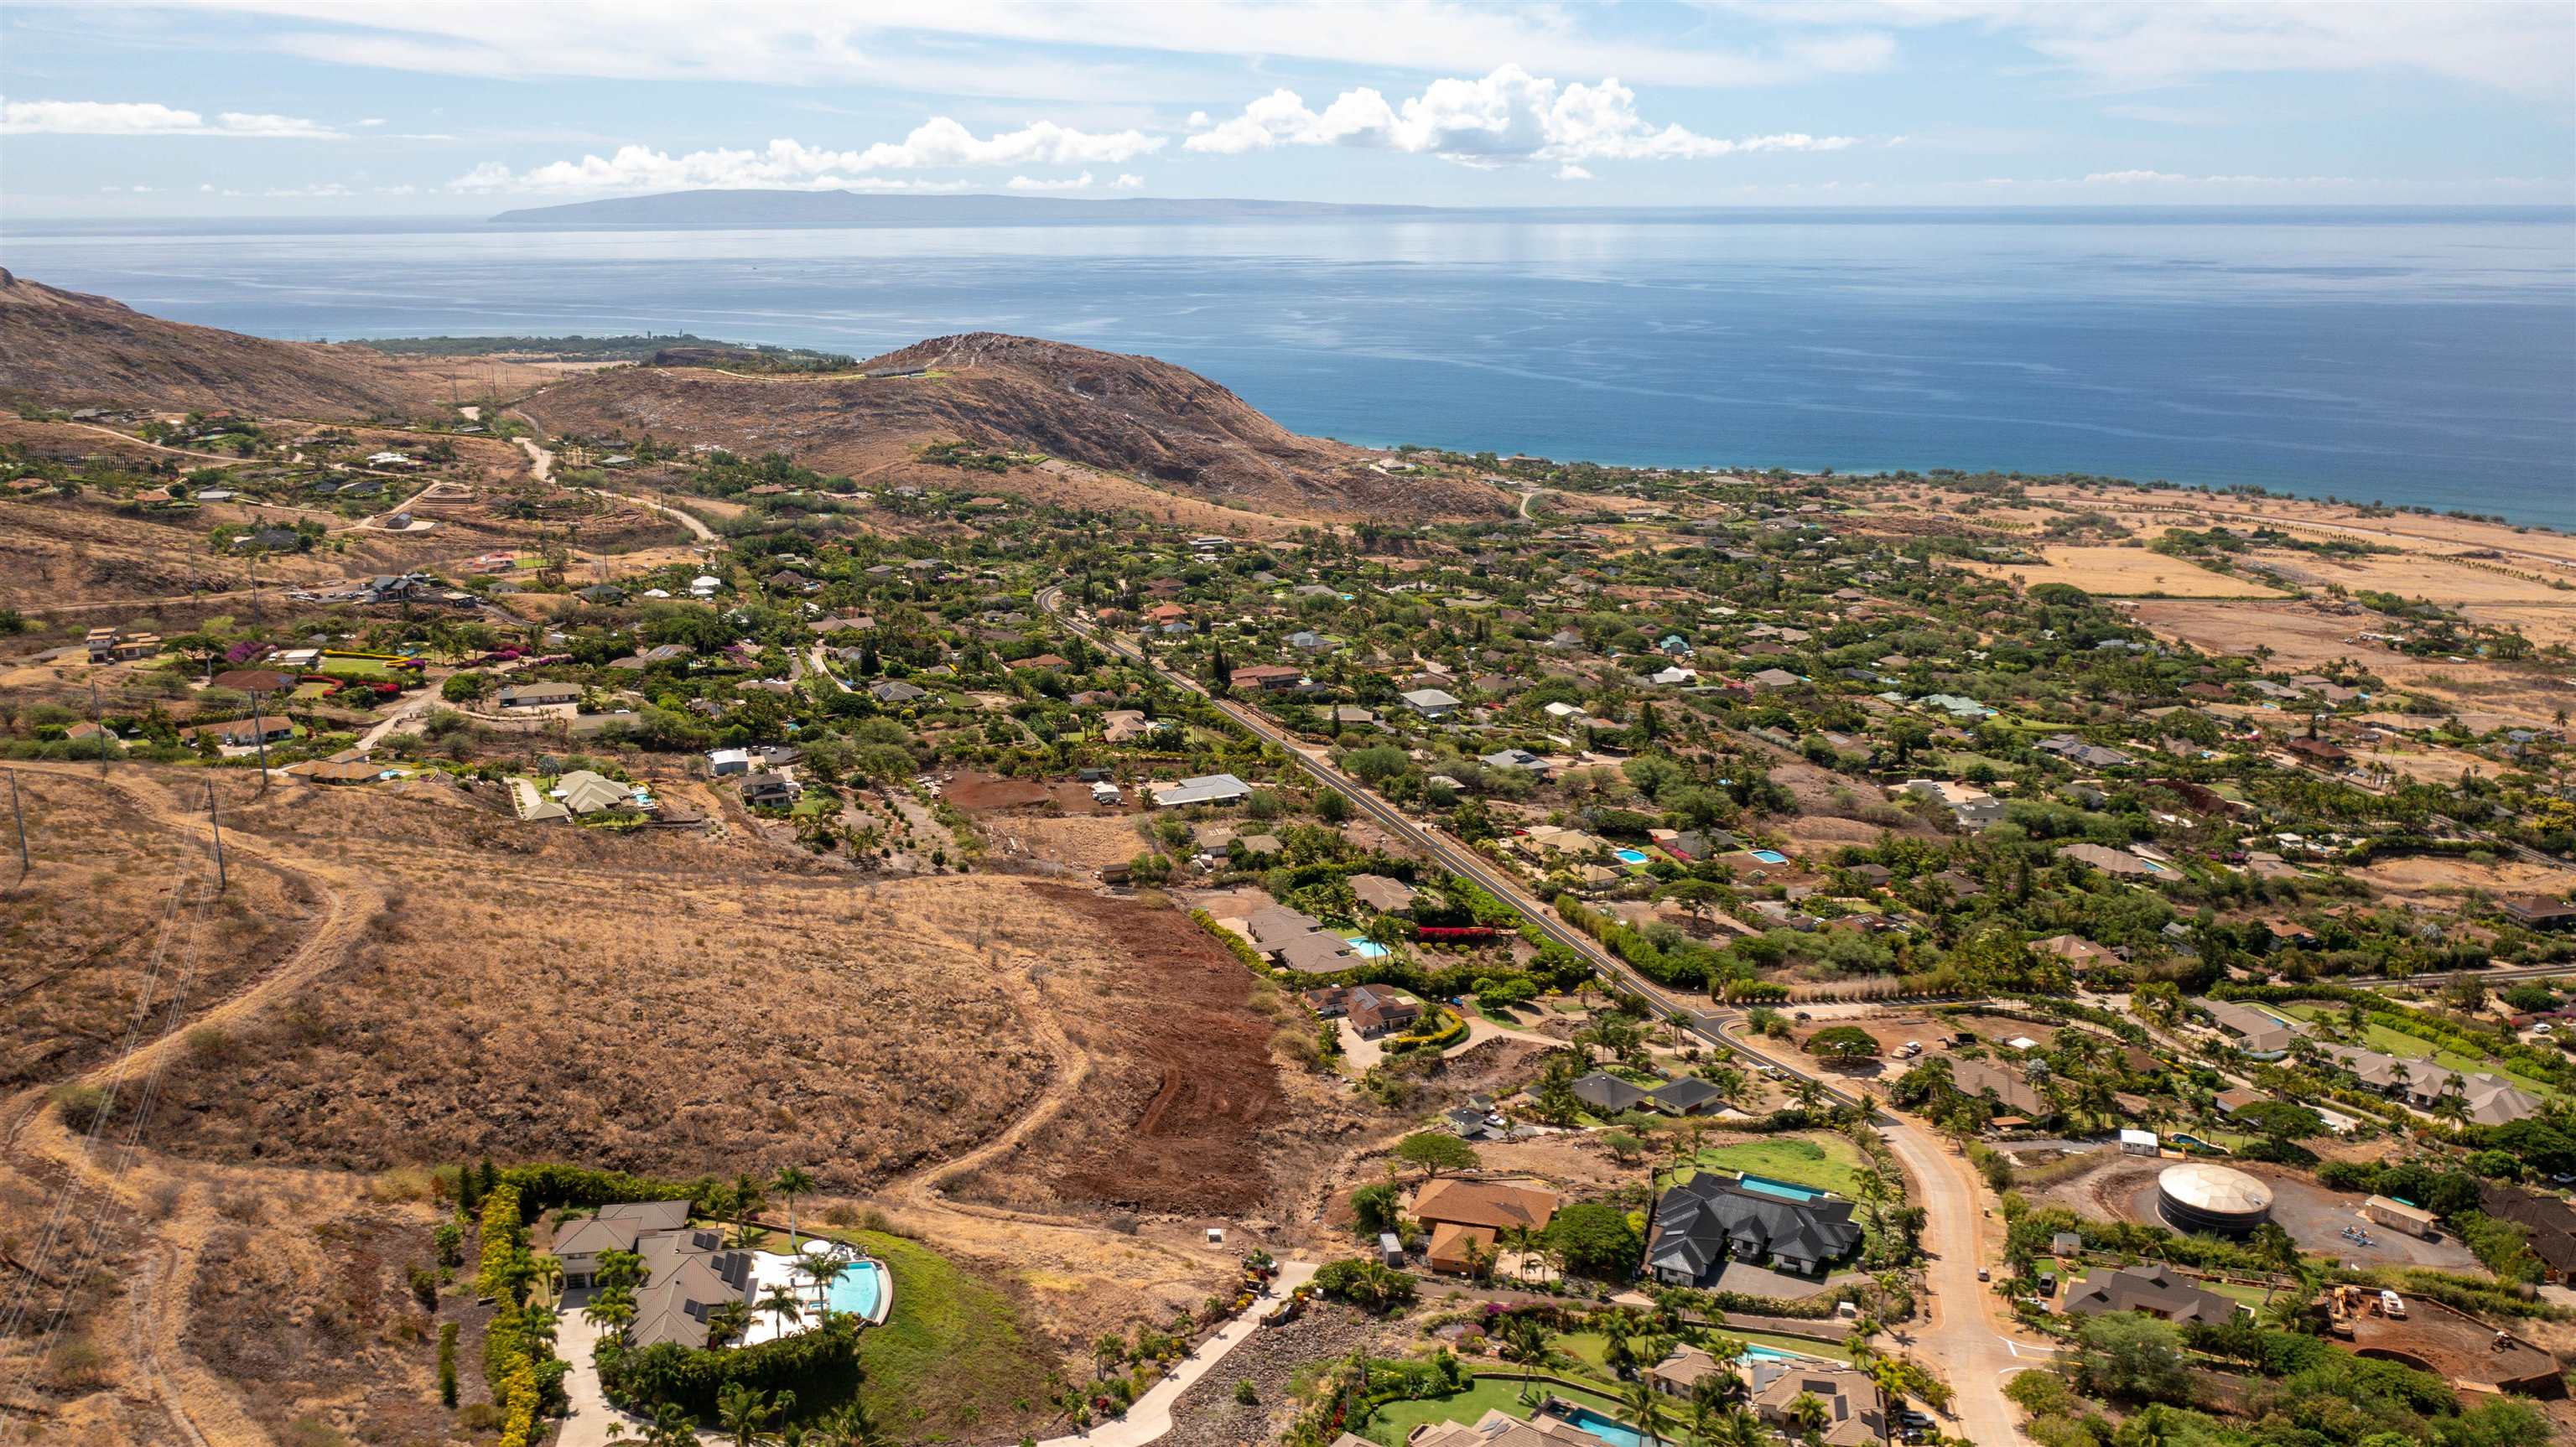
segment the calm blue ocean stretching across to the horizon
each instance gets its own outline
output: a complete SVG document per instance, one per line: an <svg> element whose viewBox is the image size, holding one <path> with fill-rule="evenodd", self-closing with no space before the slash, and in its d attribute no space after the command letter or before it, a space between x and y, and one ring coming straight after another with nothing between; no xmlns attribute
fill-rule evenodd
<svg viewBox="0 0 2576 1447"><path fill-rule="evenodd" d="M1028 332L1352 443L2089 471L2576 528L2576 209L93 221L10 224L0 265L270 337Z"/></svg>

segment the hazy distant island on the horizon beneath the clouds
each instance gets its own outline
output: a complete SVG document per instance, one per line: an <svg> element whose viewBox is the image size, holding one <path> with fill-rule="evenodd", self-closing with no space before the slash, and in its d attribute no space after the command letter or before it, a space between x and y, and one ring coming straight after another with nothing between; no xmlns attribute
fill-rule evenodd
<svg viewBox="0 0 2576 1447"><path fill-rule="evenodd" d="M598 227L1056 227L1079 221L1329 221L1445 216L1443 206L1337 206L1327 201L1172 201L1123 196L866 196L858 191L667 191L502 211L502 224Z"/></svg>

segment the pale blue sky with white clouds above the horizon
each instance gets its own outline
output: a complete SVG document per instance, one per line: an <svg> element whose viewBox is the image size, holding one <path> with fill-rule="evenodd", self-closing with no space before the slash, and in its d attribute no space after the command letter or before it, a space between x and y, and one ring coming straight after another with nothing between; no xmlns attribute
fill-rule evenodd
<svg viewBox="0 0 2576 1447"><path fill-rule="evenodd" d="M15 216L2571 203L2576 5L10 0Z"/></svg>

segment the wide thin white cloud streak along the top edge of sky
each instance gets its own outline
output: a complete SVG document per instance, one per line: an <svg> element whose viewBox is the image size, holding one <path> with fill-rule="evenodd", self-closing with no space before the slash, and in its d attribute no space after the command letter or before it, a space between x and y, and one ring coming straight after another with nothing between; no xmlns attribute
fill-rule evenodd
<svg viewBox="0 0 2576 1447"><path fill-rule="evenodd" d="M587 75L757 85L899 85L914 93L1095 100L1206 95L1203 67L1151 57L1242 57L1445 75L1525 57L1651 85L1780 85L1886 70L1875 28L1795 23L1710 39L1716 26L1636 33L1569 5L1479 0L26 0L82 8L268 15L252 44L337 64L435 75ZM1772 33L1777 31L1777 33ZM976 44L958 44L958 41ZM1139 64L1136 57L1149 57ZM1103 80L1118 82L1103 88Z"/></svg>

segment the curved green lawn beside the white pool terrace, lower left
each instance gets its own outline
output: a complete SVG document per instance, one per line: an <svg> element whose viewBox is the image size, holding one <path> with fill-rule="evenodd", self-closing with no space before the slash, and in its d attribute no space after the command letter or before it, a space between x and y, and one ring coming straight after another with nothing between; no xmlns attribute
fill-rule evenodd
<svg viewBox="0 0 2576 1447"><path fill-rule="evenodd" d="M824 1236L855 1244L894 1274L894 1311L858 1339L858 1362L868 1372L868 1408L896 1437L992 1437L974 1432L976 1424L1043 1406L1054 1352L1020 1323L1010 1298L920 1241L878 1231Z"/></svg>

